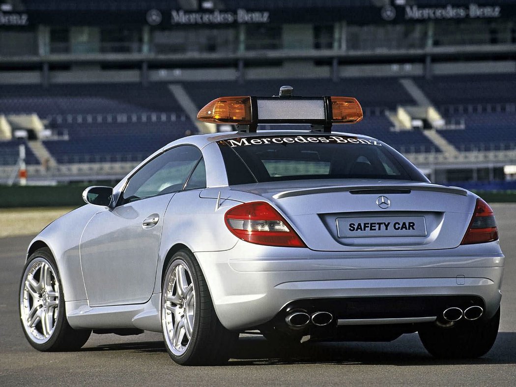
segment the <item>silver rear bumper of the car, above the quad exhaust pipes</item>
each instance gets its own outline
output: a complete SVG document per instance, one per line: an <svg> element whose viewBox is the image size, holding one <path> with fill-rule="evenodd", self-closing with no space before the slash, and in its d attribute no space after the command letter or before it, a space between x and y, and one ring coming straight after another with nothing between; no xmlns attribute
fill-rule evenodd
<svg viewBox="0 0 516 387"><path fill-rule="evenodd" d="M259 326L288 303L304 299L478 296L490 317L502 297L504 255L497 241L446 250L360 253L239 241L231 250L196 256L217 315L232 330Z"/></svg>

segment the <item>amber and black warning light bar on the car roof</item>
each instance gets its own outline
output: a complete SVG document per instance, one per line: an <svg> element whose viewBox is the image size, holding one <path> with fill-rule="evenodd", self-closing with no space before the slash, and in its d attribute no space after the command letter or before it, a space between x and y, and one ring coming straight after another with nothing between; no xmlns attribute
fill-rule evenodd
<svg viewBox="0 0 516 387"><path fill-rule="evenodd" d="M332 124L359 122L363 113L359 102L351 97L302 97L280 90L279 96L272 97L217 98L204 106L197 118L204 122L236 124L246 132L256 132L258 124L311 124L314 130L331 132Z"/></svg>

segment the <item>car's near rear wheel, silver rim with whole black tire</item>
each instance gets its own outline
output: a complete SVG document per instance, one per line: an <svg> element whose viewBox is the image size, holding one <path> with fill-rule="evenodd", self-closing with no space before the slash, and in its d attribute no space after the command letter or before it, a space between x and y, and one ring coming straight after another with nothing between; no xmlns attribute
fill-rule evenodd
<svg viewBox="0 0 516 387"><path fill-rule="evenodd" d="M175 253L162 288L162 330L167 352L183 365L223 364L238 333L220 323L206 280L188 250Z"/></svg>

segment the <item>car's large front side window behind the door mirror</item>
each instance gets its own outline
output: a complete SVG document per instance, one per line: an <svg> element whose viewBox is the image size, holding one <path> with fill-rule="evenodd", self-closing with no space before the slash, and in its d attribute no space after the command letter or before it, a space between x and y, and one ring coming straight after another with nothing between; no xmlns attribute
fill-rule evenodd
<svg viewBox="0 0 516 387"><path fill-rule="evenodd" d="M153 158L128 181L120 204L180 191L201 157L199 149L184 145Z"/></svg>

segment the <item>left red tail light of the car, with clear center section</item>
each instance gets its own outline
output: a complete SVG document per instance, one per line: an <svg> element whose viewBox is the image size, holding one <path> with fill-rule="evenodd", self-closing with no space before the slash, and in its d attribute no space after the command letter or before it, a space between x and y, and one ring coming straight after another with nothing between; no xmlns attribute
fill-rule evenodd
<svg viewBox="0 0 516 387"><path fill-rule="evenodd" d="M265 202L244 203L224 216L234 235L250 243L266 246L306 247L288 222Z"/></svg>

